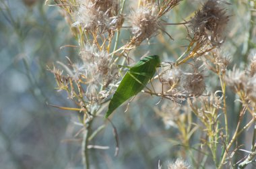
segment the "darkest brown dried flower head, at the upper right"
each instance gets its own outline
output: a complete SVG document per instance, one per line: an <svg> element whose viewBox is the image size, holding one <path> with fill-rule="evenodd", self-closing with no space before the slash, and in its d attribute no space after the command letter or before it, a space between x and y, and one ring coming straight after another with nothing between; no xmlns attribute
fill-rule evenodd
<svg viewBox="0 0 256 169"><path fill-rule="evenodd" d="M190 27L197 42L201 44L210 42L213 46L219 46L224 42L229 16L226 14L226 9L220 7L220 3L225 2L208 0L191 19Z"/></svg>

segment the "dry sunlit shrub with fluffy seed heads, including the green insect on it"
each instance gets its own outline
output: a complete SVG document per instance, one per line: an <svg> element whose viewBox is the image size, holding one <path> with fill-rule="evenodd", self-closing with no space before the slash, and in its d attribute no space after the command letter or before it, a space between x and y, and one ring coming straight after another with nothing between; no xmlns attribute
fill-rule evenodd
<svg viewBox="0 0 256 169"><path fill-rule="evenodd" d="M104 123L92 131L94 119L106 117L106 121L110 121L115 109L123 103L129 105L132 97L140 92L160 99L158 106L152 109L166 125L178 129L176 141L183 146L180 152L195 150L197 157L186 153L182 156L192 161L191 164L177 160L168 168L199 168L204 167L206 162L212 162L216 168L237 164L239 168L244 168L253 162L256 132L249 156L241 162L232 161L236 153L236 150L231 150L235 139L255 123L256 64L255 58L252 58L246 70L227 70L230 58L224 56L220 48L225 42L226 26L230 19L226 9L229 3L208 0L189 20L167 23L164 16L172 9L179 8L183 1L54 1L54 5L63 11L77 41L77 44L70 46L77 48L80 62L73 63L67 58L68 64L58 62L58 68L49 66L55 74L57 88L66 91L69 99L77 105L74 108L53 106L79 111L83 125L84 168L90 168L89 149L102 148L89 145L90 140L108 125ZM137 3L137 7L130 13L124 13L128 3ZM188 38L189 44L185 44L187 47L177 60L161 62L159 54L132 56L133 50L143 42L150 42L158 34L165 34L172 39L165 31L170 25L183 25L187 29L184 38ZM122 32L130 35L129 40L121 40ZM220 89L207 90L206 72L218 77ZM227 86L231 87L242 103L241 119L245 113L251 115L251 121L245 126L240 126L241 120L237 122L234 133L228 128L231 112L227 111ZM118 132L111 121L110 125L115 131L117 155ZM195 137L197 142L191 142Z"/></svg>

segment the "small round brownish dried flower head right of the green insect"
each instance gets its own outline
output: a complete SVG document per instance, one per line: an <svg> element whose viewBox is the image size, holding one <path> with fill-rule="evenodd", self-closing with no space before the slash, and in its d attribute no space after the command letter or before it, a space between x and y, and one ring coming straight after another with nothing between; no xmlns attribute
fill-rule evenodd
<svg viewBox="0 0 256 169"><path fill-rule="evenodd" d="M186 73L183 88L187 93L199 96L205 91L205 80L201 72Z"/></svg>

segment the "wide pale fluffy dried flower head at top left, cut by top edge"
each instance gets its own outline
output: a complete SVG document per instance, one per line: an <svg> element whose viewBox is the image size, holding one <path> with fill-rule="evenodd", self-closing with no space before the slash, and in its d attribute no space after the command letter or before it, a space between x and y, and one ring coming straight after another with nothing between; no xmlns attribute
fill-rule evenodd
<svg viewBox="0 0 256 169"><path fill-rule="evenodd" d="M74 13L73 26L82 25L85 30L100 33L115 30L123 24L123 16L118 15L117 0L79 0Z"/></svg>

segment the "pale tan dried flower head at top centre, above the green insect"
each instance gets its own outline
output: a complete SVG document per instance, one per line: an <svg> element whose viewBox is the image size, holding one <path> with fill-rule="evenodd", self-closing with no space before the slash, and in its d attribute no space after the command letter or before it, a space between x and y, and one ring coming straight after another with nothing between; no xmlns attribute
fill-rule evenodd
<svg viewBox="0 0 256 169"><path fill-rule="evenodd" d="M158 34L160 23L156 5L148 4L133 11L130 16L131 32L133 34L132 44L139 45L146 38Z"/></svg>

